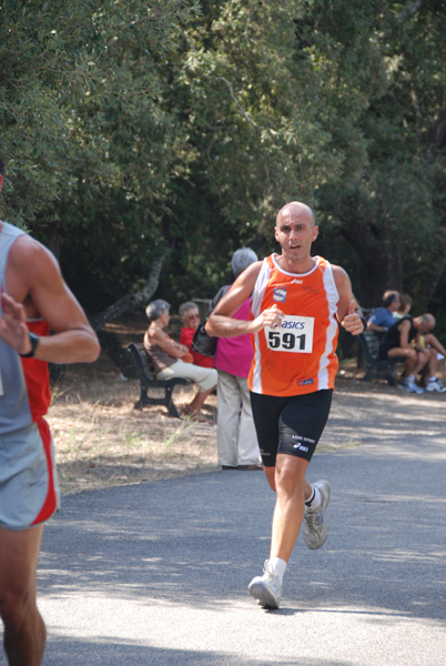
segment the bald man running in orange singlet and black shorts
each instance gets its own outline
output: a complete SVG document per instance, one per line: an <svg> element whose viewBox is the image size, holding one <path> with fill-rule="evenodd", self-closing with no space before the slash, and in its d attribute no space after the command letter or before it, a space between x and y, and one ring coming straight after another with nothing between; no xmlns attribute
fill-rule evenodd
<svg viewBox="0 0 446 666"><path fill-rule="evenodd" d="M282 253L249 266L206 325L211 335L254 339L249 386L265 474L277 498L270 558L249 589L267 608L278 608L302 519L308 548L326 539L331 487L326 481L312 486L305 473L330 413L338 322L353 335L364 330L346 272L311 256L317 232L307 205L286 204L275 226ZM250 296L252 320L232 319Z"/></svg>

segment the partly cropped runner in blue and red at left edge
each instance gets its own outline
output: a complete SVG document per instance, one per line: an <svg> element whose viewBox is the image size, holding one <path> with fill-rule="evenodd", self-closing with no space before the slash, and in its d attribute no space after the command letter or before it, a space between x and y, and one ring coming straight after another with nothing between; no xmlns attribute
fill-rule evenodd
<svg viewBox="0 0 446 666"><path fill-rule="evenodd" d="M0 158L0 190L3 178ZM0 292L0 616L10 666L40 666L45 627L36 572L43 524L59 501L43 420L48 362L94 361L100 346L52 254L1 221Z"/></svg>

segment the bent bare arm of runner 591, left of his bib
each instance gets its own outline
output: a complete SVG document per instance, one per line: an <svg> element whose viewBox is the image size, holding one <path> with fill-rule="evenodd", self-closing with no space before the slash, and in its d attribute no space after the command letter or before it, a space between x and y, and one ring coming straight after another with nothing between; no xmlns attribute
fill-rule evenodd
<svg viewBox="0 0 446 666"><path fill-rule="evenodd" d="M206 333L214 337L235 337L245 333L257 333L265 326L280 325L282 310L275 305L264 310L253 321L232 319L234 312L251 296L257 280L262 262L251 264L239 278L230 291L219 302L207 319Z"/></svg>

